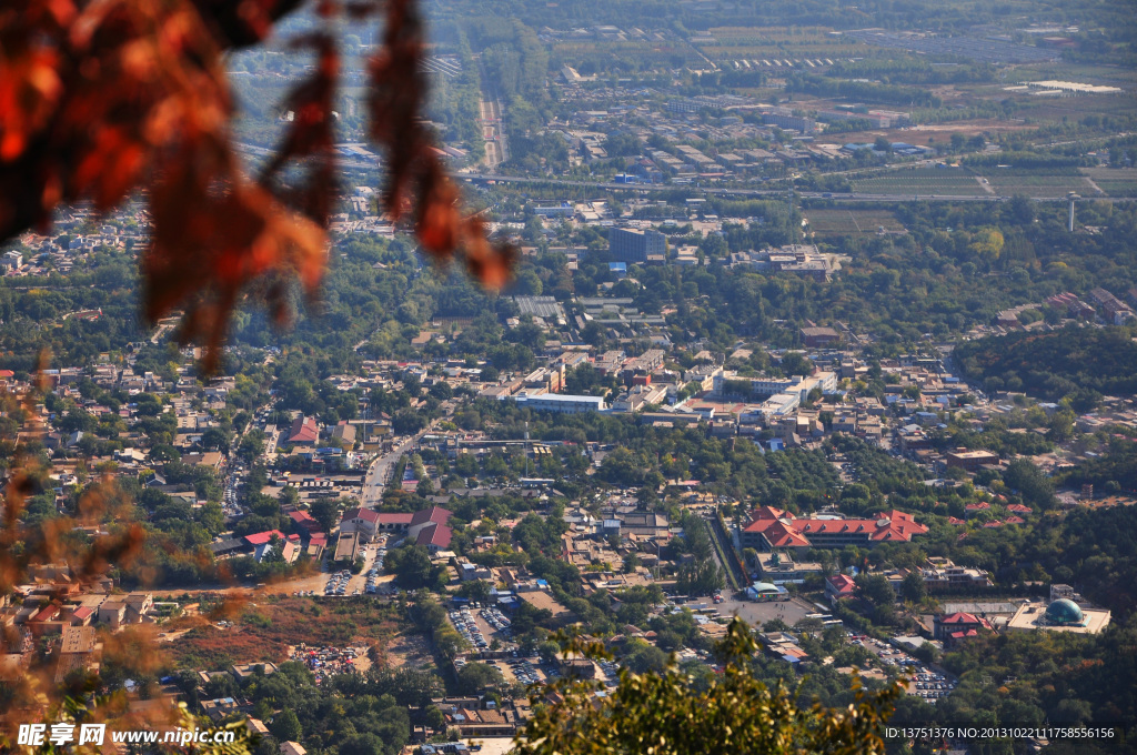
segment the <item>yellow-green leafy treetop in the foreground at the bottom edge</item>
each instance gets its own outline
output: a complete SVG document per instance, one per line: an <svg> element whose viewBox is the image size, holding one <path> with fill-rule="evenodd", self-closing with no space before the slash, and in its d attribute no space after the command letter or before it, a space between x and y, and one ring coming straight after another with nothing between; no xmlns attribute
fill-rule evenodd
<svg viewBox="0 0 1137 755"><path fill-rule="evenodd" d="M599 642L562 640L592 657L611 657ZM573 678L550 685L562 697L537 706L517 733L522 755L586 755L652 752L673 755L762 753L864 755L883 753L881 724L901 697L899 685L865 692L854 678L848 707L798 706L797 688L760 681L750 667L757 646L735 619L717 647L724 669L692 688L689 675L669 663L662 671L625 673L615 689L594 697L603 683Z"/></svg>

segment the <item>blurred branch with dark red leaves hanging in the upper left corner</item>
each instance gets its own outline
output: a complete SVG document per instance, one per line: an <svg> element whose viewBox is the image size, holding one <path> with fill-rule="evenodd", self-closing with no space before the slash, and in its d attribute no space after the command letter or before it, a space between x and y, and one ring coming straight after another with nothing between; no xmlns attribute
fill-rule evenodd
<svg viewBox="0 0 1137 755"><path fill-rule="evenodd" d="M227 50L263 42L300 0L15 0L0 9L0 240L45 229L60 204L107 211L134 192L150 207L143 315L184 310L183 342L207 346L211 371L229 316L249 284L285 272L314 296L327 259L337 192L332 101L334 38L294 41L317 66L288 97L296 116L262 174L232 148L235 114ZM421 125L426 102L417 0L315 0L326 23L381 17L383 45L368 66L370 131L383 148L383 208L413 219L435 260L459 257L491 288L508 281L513 250L491 244L464 216ZM299 164L299 181L280 180ZM292 175L292 174L290 174ZM264 293L277 320L284 291Z"/></svg>

